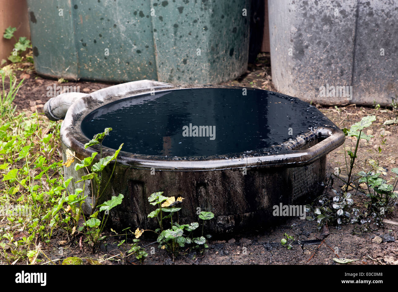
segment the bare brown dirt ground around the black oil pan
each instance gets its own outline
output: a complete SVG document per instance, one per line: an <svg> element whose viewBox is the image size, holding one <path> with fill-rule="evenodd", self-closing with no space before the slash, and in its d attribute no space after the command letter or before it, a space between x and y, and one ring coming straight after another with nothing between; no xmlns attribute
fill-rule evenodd
<svg viewBox="0 0 398 292"><path fill-rule="evenodd" d="M112 84L95 83L87 81L68 82L59 84L55 80L44 79L38 77L34 71L29 71L26 67L21 66L21 71L16 71L18 78L21 74L28 71L30 77L25 79L23 87L18 92L15 104L19 110L35 110L42 112L42 105L49 99L47 97L47 86L80 86L80 91L91 92ZM256 64L249 64L248 72L237 80L224 83L226 85L236 85L244 87L254 87L275 91L271 82L269 54L259 54ZM384 126L386 120L397 117L396 112L390 109L380 108L375 110L368 107L345 106L338 107L322 107L317 106L332 122L339 128L351 126L354 122L361 120L363 116L375 114L377 121L367 129L368 134L373 133L375 138L368 143L361 140L359 146L358 158L353 173L356 174L361 170L369 170L365 166L366 159L375 159L380 162L380 166L386 167L389 171L384 179L392 176L391 168L398 167L398 125L392 124ZM384 130L382 130L384 129ZM380 131L384 137L380 136ZM385 139L385 140L384 140ZM354 146L355 139L347 139L346 147ZM379 153L378 147L381 152ZM343 146L332 151L328 155L327 173L330 176L334 172L334 168L341 168L340 176L344 179L347 177L345 170L344 148ZM334 179L333 187L338 189L343 183ZM330 192L330 190L328 190ZM352 191L355 206L363 210L363 196L358 192ZM307 202L310 203L310 202ZM182 206L183 207L183 206ZM387 215L387 219L398 222L398 207L395 205L394 211ZM137 228L137 226L132 226ZM398 240L395 242L373 243L372 238L377 235L389 234L398 239L398 225L385 223L383 229L362 234L353 234L354 225L343 225L341 230L337 230L334 226L329 226L330 234L326 237L322 245L306 245L301 247L293 244L293 248L288 250L281 245L281 238L285 233L294 236L295 240L317 240L322 238L321 231L317 228L317 223L297 218L289 219L279 226L275 226L266 232L256 232L253 230L251 234L235 234L234 236L226 236L221 240L210 240L209 248L205 251L190 251L182 249L184 252L175 259L174 264L336 264L333 258L336 258L335 252L339 257L347 259L358 259L351 264L398 264ZM147 232L144 233L144 236ZM111 234L109 234L111 235ZM123 237L114 237L104 242L100 248L93 252L92 248L84 244L82 238L82 247L79 246L81 236L76 236L74 240L63 245L64 253L59 255L59 242L67 240L67 238L53 238L49 246L44 246L43 251L52 260L57 262L59 258L77 256L81 258L93 258L101 261L102 264L138 264L138 261L131 255L125 257L123 245L118 247L117 244ZM140 246L151 244L152 238L141 238ZM128 239L131 243L131 239ZM153 249L151 249L153 247ZM127 248L126 250L128 250ZM333 250L332 250L333 249ZM144 264L172 264L172 259L166 252L159 249L157 244L145 247L148 257ZM151 251L154 251L152 254ZM122 255L121 255L122 254ZM124 254L124 255L123 255ZM47 259L43 259L47 261ZM84 259L84 263L88 260Z"/></svg>

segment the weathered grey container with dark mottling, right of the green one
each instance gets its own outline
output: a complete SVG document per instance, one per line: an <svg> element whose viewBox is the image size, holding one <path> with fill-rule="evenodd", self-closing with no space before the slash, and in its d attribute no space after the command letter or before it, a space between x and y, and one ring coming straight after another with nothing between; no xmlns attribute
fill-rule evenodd
<svg viewBox="0 0 398 292"><path fill-rule="evenodd" d="M269 0L277 90L320 104L391 104L398 84L397 7L394 0Z"/></svg>

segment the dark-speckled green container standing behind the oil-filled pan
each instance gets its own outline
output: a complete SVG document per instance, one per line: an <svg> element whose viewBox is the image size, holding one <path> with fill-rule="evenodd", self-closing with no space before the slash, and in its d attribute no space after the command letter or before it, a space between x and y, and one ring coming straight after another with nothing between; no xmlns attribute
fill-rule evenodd
<svg viewBox="0 0 398 292"><path fill-rule="evenodd" d="M220 83L247 68L249 0L28 0L28 8L44 76Z"/></svg>

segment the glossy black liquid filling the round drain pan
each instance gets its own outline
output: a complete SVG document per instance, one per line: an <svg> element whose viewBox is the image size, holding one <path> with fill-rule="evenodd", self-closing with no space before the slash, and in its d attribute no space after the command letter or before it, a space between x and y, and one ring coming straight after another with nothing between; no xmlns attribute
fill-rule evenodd
<svg viewBox="0 0 398 292"><path fill-rule="evenodd" d="M228 156L261 151L294 139L322 124L323 118L308 103L279 93L239 87L196 88L107 104L88 114L81 130L91 139L110 127L113 130L103 145L117 149L124 143L125 152L172 157Z"/></svg>

